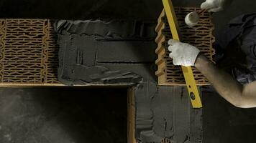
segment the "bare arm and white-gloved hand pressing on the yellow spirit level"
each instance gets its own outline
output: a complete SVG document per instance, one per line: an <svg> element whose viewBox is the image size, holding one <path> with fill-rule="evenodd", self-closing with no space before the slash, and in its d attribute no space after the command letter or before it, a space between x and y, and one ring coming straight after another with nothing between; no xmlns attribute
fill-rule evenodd
<svg viewBox="0 0 256 143"><path fill-rule="evenodd" d="M175 65L196 66L209 80L216 91L236 107L256 107L256 82L242 85L225 71L222 71L198 49L190 44L170 40L168 49L171 51Z"/></svg>

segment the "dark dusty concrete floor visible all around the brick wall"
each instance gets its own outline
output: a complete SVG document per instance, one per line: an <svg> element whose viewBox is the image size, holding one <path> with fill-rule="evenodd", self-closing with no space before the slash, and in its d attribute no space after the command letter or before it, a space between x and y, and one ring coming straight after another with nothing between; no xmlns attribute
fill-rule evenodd
<svg viewBox="0 0 256 143"><path fill-rule="evenodd" d="M201 1L175 0L174 5L200 6ZM214 14L216 32L233 17L255 12L255 7L255 1L234 0L232 6ZM0 1L1 18L154 20L161 9L160 0ZM0 142L98 142L97 139L102 137L109 137L110 142L111 139L124 142L126 90L1 88ZM114 102L117 100L119 105ZM203 100L204 142L255 142L256 109L237 109L214 93L206 93ZM96 110L91 111L92 107ZM95 116L91 118L91 114ZM122 132L116 132L116 129Z"/></svg>

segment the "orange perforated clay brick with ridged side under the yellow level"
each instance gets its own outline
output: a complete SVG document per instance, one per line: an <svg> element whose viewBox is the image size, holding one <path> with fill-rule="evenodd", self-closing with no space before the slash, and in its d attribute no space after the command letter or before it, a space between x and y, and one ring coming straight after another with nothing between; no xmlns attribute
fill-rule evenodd
<svg viewBox="0 0 256 143"><path fill-rule="evenodd" d="M185 24L184 19L186 14L192 11L198 11L198 13L201 13L200 20L196 26L188 27ZM212 61L212 56L215 54L215 50L213 48L215 39L213 36L214 25L212 24L210 14L204 9L198 8L175 8L175 14L180 27L181 41L198 47L201 53ZM155 52L158 55L158 59L155 61L158 69L155 74L158 78L158 84L185 85L186 82L183 77L181 67L174 66L173 59L170 59L168 56L170 53L170 51L168 51L168 40L171 39L172 36L164 11L160 14L155 31L157 32L157 38L155 39L157 49ZM195 67L192 67L192 69L197 85L209 84L200 71Z"/></svg>

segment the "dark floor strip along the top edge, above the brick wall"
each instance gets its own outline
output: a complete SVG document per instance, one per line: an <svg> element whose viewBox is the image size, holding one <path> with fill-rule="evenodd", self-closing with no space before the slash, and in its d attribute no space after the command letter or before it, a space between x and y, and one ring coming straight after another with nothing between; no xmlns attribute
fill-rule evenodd
<svg viewBox="0 0 256 143"><path fill-rule="evenodd" d="M175 6L196 6L201 0L175 0ZM88 19L96 17L120 19L156 19L163 9L160 0L1 0L0 17Z"/></svg>

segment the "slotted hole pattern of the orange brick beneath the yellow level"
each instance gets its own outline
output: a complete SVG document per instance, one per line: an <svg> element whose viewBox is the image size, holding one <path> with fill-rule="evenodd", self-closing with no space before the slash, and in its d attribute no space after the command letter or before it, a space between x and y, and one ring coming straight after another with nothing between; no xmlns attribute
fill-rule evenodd
<svg viewBox="0 0 256 143"><path fill-rule="evenodd" d="M205 11L201 14L200 20L196 26L188 27L184 21L186 14L192 11L202 11L203 9L198 8L175 8L175 14L178 19L180 26L180 36L183 42L192 44L198 47L201 53L207 56L211 61L215 54L213 43L215 38L213 36L214 25L211 22L210 14ZM166 83L170 85L185 85L185 79L183 77L183 71L180 66L173 65L173 59L170 59L168 51L168 40L172 38L168 20L164 14L161 21L165 24L163 29L160 29L160 33L163 34L165 41L161 44L165 48L165 54L163 61L165 62L164 74L166 77ZM158 31L157 31L158 32ZM192 67L193 75L198 85L209 84L208 80L198 71L195 67Z"/></svg>

